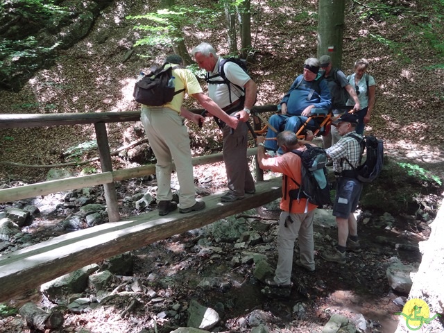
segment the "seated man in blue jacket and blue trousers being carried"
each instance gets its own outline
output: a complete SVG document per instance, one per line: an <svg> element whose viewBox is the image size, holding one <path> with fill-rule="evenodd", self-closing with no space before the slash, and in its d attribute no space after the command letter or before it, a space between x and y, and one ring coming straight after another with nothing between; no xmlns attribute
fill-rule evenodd
<svg viewBox="0 0 444 333"><path fill-rule="evenodd" d="M319 60L316 58L308 58L304 62L304 74L301 74L294 80L287 94L285 94L282 101L280 101L281 113L273 114L268 119L268 123L276 130L280 130L284 124L284 130L291 130L298 132L300 126L307 121L310 115L320 112L326 113L330 110L332 105L332 98L330 96L330 89L327 83L324 82L319 72ZM277 151L278 144L276 143L276 136L271 126L268 126L266 133L265 148L268 151ZM279 151L279 153L283 153Z"/></svg>

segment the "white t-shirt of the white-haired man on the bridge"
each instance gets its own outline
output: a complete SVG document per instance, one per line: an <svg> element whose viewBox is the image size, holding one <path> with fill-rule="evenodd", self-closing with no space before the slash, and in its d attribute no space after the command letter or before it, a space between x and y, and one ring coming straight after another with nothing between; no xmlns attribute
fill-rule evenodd
<svg viewBox="0 0 444 333"><path fill-rule="evenodd" d="M210 76L219 74L219 62L221 61L221 58L217 60L216 66L214 66L214 70L210 73ZM250 76L246 74L244 69L241 69L237 64L234 62L225 62L225 65L223 65L223 71L225 72L225 76L228 80L230 80L232 85L230 85L231 90L231 103L234 103L239 99L240 96L244 95L243 92L239 88L237 88L235 85L239 85L240 87L244 87L246 83L251 80ZM221 76L217 76L216 78L212 78L214 81L223 81L223 78ZM210 96L210 99L214 101L217 105L219 105L220 108L225 108L225 106L230 105L230 96L228 95L228 85L225 85L225 83L214 84L214 83L208 83L208 96Z"/></svg>

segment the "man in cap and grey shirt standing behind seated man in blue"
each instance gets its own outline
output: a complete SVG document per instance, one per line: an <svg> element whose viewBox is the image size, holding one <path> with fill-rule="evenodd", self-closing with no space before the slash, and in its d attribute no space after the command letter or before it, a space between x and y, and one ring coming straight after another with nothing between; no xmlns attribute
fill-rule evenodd
<svg viewBox="0 0 444 333"><path fill-rule="evenodd" d="M332 68L332 58L324 55L319 58L321 62L321 69L324 71L324 79L327 81L328 88L330 89L330 95L332 95L332 112L335 117L343 112L353 109L354 112L360 110L359 99L355 92L355 89L350 85L345 74L341 69ZM353 107L346 106L348 96L350 96L355 105ZM341 137L338 131L333 126L332 131L322 137L324 149L330 148L332 144L336 144Z"/></svg>

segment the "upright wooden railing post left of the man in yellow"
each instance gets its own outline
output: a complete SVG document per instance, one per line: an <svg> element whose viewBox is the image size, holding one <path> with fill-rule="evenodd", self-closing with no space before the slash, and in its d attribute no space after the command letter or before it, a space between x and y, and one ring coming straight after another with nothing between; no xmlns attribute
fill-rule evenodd
<svg viewBox="0 0 444 333"><path fill-rule="evenodd" d="M112 162L110 146L108 144L108 135L106 133L105 123L94 123L96 128L97 146L99 147L99 156L102 172L112 171ZM114 182L103 184L105 189L106 207L108 208L108 219L110 222L120 220L119 203L117 203L116 185Z"/></svg>

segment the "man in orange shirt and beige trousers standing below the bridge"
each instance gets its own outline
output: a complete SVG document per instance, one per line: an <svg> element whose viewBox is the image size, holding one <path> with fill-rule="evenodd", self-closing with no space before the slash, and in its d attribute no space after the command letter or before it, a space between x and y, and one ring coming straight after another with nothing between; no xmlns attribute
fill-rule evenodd
<svg viewBox="0 0 444 333"><path fill-rule="evenodd" d="M270 157L265 152L264 137L257 137L259 167L283 174L282 198L280 200L282 212L278 231L278 264L275 276L266 278L264 282L269 287L291 287L293 248L296 239L298 239L300 250L300 257L296 260L296 265L309 272L315 270L313 218L318 205L312 203L306 196L300 198L293 196L293 193L297 196L302 185L303 161L300 153L315 145L311 142L298 140L296 134L290 130L279 133L277 142L284 154Z"/></svg>

